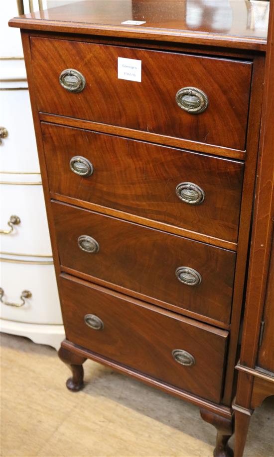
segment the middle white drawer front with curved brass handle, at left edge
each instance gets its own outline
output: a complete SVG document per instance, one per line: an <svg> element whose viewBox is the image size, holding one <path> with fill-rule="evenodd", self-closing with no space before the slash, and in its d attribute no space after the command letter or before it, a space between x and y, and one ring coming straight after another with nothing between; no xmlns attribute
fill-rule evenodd
<svg viewBox="0 0 274 457"><path fill-rule="evenodd" d="M5 175L2 175L5 176ZM17 175L17 180L21 179ZM9 234L0 234L0 250L16 254L51 255L51 245L41 185L1 184L1 230L9 230L11 215L20 218Z"/></svg>

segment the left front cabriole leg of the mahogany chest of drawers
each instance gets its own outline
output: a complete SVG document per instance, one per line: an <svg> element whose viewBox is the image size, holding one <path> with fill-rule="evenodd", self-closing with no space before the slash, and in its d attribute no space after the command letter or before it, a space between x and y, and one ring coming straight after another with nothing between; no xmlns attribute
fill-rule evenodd
<svg viewBox="0 0 274 457"><path fill-rule="evenodd" d="M72 392L78 392L84 387L84 369L83 363L87 360L85 357L78 356L65 348L61 348L58 351L58 356L64 364L66 364L71 372L72 378L69 378L66 382L67 388Z"/></svg>

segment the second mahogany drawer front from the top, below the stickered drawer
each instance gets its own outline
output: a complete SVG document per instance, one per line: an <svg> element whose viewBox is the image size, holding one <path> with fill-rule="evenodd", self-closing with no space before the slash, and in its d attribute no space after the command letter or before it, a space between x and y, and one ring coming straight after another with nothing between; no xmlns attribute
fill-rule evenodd
<svg viewBox="0 0 274 457"><path fill-rule="evenodd" d="M243 163L52 124L42 131L52 192L237 241ZM89 176L71 170L79 156Z"/></svg>

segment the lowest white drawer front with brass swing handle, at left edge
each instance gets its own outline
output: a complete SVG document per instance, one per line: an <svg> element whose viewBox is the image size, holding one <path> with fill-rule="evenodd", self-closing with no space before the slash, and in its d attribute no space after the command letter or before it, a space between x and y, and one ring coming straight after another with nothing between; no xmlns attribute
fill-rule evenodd
<svg viewBox="0 0 274 457"><path fill-rule="evenodd" d="M53 265L1 262L2 301L20 303L23 290L32 296L16 308L0 303L1 319L30 324L62 324Z"/></svg>

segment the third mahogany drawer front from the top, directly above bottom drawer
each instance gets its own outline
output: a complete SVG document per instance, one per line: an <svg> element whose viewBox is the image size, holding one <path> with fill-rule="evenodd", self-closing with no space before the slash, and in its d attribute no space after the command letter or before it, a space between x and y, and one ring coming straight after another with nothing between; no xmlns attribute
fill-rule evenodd
<svg viewBox="0 0 274 457"><path fill-rule="evenodd" d="M53 202L52 209L61 265L135 291L148 301L152 297L229 323L234 252L62 203ZM98 252L85 252L82 239L79 248L82 235L98 243L99 250L90 241ZM201 283L179 281L179 267L194 269Z"/></svg>

